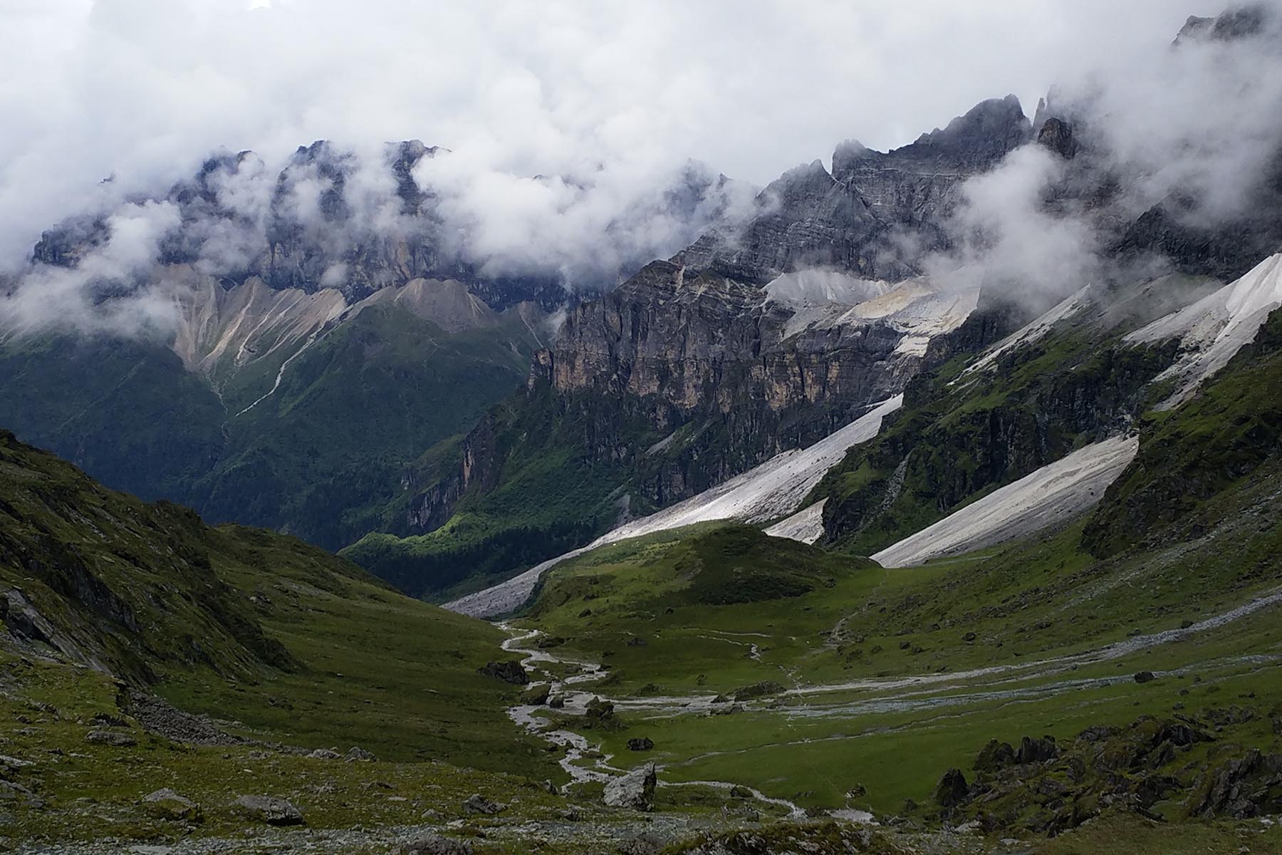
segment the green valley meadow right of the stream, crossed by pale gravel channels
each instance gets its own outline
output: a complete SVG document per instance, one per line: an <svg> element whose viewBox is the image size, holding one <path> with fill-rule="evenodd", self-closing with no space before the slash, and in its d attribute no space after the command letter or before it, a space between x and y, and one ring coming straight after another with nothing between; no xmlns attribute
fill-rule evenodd
<svg viewBox="0 0 1282 855"><path fill-rule="evenodd" d="M1232 745L1278 750L1268 718L1282 709L1279 605L1115 658L1064 658L1178 631L1277 592L1279 474L1261 470L1222 496L1219 524L1194 544L1101 561L1081 547L1079 522L922 568L865 565L799 597L672 615L628 609L619 594L654 587L655 555L673 545L601 550L554 570L523 623L564 638L550 652L606 663L610 677L588 691L610 697L706 699L762 681L799 692L774 691L710 718L624 709L620 728L591 738L624 764L659 760L670 779L741 781L803 805L900 813L905 799L928 804L941 773L969 769L990 738L1067 741L1141 714L1249 708L1264 728L1224 735L1218 756ZM558 604L567 591L595 588L604 588L597 600ZM578 617L583 609L592 614ZM646 643L629 646L631 638ZM1136 683L1141 670L1160 677ZM814 691L842 685L850 686ZM651 738L655 750L627 751L633 737ZM847 796L856 786L867 792Z"/></svg>

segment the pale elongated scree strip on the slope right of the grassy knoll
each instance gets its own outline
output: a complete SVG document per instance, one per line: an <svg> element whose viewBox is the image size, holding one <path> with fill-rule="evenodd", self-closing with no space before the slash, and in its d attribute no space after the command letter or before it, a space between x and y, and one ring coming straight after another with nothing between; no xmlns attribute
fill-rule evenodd
<svg viewBox="0 0 1282 855"><path fill-rule="evenodd" d="M1031 535L1092 508L1135 459L1137 437L1078 449L873 555L882 567L914 567Z"/></svg>

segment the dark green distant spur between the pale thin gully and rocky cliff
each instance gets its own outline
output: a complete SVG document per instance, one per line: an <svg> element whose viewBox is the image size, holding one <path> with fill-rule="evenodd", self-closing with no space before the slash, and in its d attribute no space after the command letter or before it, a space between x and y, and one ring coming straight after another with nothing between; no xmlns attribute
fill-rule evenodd
<svg viewBox="0 0 1282 855"><path fill-rule="evenodd" d="M272 396L228 419L224 454L191 488L196 508L327 549L403 531L408 465L510 395L533 346L519 318L449 335L370 306L290 363Z"/></svg>

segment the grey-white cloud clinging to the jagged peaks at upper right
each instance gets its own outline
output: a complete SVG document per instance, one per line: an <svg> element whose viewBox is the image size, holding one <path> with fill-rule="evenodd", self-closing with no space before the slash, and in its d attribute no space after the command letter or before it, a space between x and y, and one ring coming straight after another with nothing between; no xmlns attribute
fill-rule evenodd
<svg viewBox="0 0 1282 855"><path fill-rule="evenodd" d="M1177 203L1164 209L1203 229L1259 215L1261 185L1282 167L1282 3L1249 8L1263 22L1254 36L1203 32L1060 81L1046 115L1068 123L1073 151L1029 142L969 179L949 223L954 247L929 256L927 272L1040 309L1091 282L1161 269L1161 258L1110 251L1155 205Z"/></svg>

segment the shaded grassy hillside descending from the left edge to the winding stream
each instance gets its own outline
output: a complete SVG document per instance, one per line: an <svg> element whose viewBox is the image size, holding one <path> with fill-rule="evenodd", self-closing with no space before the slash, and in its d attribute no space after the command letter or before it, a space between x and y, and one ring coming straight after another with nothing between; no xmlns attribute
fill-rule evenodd
<svg viewBox="0 0 1282 855"><path fill-rule="evenodd" d="M32 650L147 687L233 732L546 773L476 669L494 627L410 600L292 537L209 528L0 435L4 620Z"/></svg>

